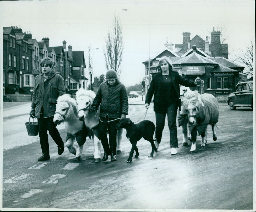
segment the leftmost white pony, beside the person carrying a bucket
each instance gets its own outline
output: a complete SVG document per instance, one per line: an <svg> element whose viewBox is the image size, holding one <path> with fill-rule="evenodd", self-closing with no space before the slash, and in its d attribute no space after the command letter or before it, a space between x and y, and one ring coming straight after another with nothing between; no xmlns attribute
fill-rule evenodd
<svg viewBox="0 0 256 212"><path fill-rule="evenodd" d="M58 97L53 122L55 124L64 123L67 131L66 146L70 153L76 155L76 160L80 160L89 131L84 123L79 121L77 114L76 100L70 94L63 94ZM74 143L75 138L76 143ZM100 161L98 148L95 148L94 159L95 162Z"/></svg>

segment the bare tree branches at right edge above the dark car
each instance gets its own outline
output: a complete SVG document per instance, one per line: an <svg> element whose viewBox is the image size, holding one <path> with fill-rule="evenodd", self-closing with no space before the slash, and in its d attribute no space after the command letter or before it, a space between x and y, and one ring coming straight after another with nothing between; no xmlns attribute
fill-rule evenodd
<svg viewBox="0 0 256 212"><path fill-rule="evenodd" d="M246 51L243 52L241 51L243 54L243 57L238 57L238 59L245 64L245 66L247 67L246 69L246 73L253 75L253 43L251 40L251 43L249 44L249 46L246 47Z"/></svg>

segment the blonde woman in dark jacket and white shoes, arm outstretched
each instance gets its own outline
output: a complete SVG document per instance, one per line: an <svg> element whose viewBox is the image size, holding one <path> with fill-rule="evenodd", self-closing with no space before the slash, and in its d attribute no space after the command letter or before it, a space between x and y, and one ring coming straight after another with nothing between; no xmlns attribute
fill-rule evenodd
<svg viewBox="0 0 256 212"><path fill-rule="evenodd" d="M170 131L171 154L177 154L178 148L176 116L177 108L181 106L180 85L195 87L200 78L195 81L187 80L172 67L171 61L167 57L162 57L156 67L156 74L152 76L150 86L145 99L145 107L148 108L154 95L154 111L156 116L156 141L158 149L164 129L165 117L167 114L168 127Z"/></svg>

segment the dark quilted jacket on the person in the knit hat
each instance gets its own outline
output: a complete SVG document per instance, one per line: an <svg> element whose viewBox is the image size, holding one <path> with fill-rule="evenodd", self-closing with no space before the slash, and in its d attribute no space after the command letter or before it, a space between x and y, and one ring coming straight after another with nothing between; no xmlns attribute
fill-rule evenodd
<svg viewBox="0 0 256 212"><path fill-rule="evenodd" d="M100 116L120 118L121 114L128 115L128 97L125 86L116 79L114 85L103 82L94 98L93 105L100 106Z"/></svg>

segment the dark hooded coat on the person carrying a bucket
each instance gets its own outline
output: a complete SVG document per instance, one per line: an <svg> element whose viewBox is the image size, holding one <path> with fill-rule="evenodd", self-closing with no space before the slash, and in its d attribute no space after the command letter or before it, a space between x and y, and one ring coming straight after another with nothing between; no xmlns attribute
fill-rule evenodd
<svg viewBox="0 0 256 212"><path fill-rule="evenodd" d="M31 108L35 109L35 117L40 117L41 108L44 116L53 116L56 111L57 98L65 93L64 81L56 72L51 73L47 80L43 72L36 76L32 96Z"/></svg>

